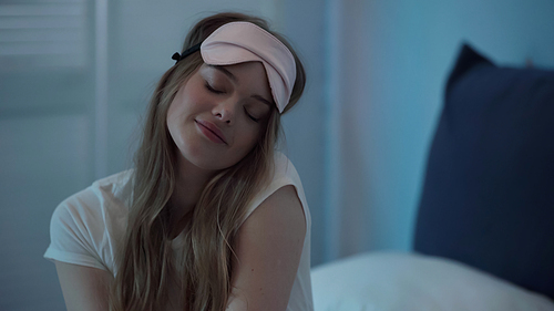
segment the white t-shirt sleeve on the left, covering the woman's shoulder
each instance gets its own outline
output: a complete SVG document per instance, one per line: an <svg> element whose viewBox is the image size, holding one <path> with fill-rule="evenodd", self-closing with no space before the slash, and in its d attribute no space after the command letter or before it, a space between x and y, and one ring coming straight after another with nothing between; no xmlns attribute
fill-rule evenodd
<svg viewBox="0 0 554 311"><path fill-rule="evenodd" d="M109 271L98 252L104 231L99 209L100 200L90 188L60 204L50 221L51 241L44 258Z"/></svg>

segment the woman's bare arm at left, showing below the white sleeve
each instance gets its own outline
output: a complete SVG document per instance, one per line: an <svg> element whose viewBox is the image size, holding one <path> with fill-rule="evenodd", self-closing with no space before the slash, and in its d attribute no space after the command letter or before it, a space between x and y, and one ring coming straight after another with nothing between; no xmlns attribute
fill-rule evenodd
<svg viewBox="0 0 554 311"><path fill-rule="evenodd" d="M113 279L107 271L55 261L68 311L107 310L109 288Z"/></svg>

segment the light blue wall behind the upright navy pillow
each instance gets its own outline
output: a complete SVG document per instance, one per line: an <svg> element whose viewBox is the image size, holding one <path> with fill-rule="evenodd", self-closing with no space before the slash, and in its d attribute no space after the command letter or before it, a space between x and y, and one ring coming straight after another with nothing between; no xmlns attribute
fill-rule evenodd
<svg viewBox="0 0 554 311"><path fill-rule="evenodd" d="M554 68L554 2L328 1L326 260L410 250L442 87L462 40Z"/></svg>

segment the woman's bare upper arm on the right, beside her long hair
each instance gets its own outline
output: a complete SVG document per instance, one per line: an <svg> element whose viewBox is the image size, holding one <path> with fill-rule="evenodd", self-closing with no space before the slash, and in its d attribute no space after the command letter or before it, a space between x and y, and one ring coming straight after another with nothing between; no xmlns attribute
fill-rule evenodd
<svg viewBox="0 0 554 311"><path fill-rule="evenodd" d="M261 203L238 231L227 310L286 310L305 235L306 219L294 186Z"/></svg>

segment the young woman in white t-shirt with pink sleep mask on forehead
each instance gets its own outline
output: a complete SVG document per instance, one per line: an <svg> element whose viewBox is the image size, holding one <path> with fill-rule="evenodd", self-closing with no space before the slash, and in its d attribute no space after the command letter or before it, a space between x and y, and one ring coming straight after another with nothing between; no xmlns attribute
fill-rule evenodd
<svg viewBox="0 0 554 311"><path fill-rule="evenodd" d="M310 216L274 152L304 68L264 20L199 21L161 79L135 167L51 221L68 310L312 310Z"/></svg>

